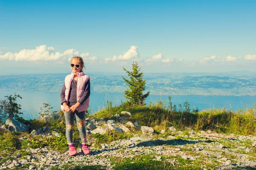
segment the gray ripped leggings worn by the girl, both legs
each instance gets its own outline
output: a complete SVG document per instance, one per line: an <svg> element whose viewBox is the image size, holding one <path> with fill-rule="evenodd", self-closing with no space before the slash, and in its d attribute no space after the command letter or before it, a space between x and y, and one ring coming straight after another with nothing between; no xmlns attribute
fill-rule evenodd
<svg viewBox="0 0 256 170"><path fill-rule="evenodd" d="M74 127L74 118L76 116L76 126L79 131L79 135L81 138L82 144L86 144L86 132L84 127L84 118L85 113L78 112L64 112L65 120L66 120L66 137L67 137L67 144L73 144L73 127Z"/></svg>

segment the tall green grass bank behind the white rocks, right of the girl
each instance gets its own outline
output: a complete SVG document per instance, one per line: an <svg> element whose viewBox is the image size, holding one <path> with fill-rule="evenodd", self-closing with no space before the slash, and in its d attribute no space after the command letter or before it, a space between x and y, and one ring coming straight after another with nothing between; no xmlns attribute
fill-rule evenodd
<svg viewBox="0 0 256 170"><path fill-rule="evenodd" d="M208 109L198 113L172 112L163 103L151 106L128 106L122 104L116 107L107 107L91 115L93 118L109 118L121 111L131 112L132 116L122 115L127 121L138 121L140 126L149 126L159 133L160 130L174 126L177 130L212 130L218 133L256 136L256 108L239 109L236 112L224 109ZM184 134L188 135L187 132Z"/></svg>

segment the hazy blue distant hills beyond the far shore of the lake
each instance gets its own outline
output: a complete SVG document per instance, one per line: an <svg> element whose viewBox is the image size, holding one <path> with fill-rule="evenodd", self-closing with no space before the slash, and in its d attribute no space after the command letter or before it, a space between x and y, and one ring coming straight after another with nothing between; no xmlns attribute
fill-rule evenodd
<svg viewBox="0 0 256 170"><path fill-rule="evenodd" d="M60 92L66 74L0 75L0 89ZM120 73L90 72L92 92L124 92ZM146 90L162 95L256 95L255 72L144 73Z"/></svg>

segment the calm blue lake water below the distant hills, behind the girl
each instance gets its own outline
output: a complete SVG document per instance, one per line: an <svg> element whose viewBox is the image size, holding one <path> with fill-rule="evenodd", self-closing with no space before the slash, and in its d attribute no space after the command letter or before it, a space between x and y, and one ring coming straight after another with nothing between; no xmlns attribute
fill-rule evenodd
<svg viewBox="0 0 256 170"><path fill-rule="evenodd" d="M43 103L49 103L54 110L60 109L60 93L59 92L39 92L39 91L8 91L0 90L0 100L6 99L6 95L20 95L22 99L18 98L17 103L21 105L22 117L24 119L38 118L39 108L43 107ZM169 104L168 95L149 95L146 99L146 104L149 102L157 102L159 100L166 101L166 105ZM121 101L126 101L123 93L107 92L97 93L91 92L90 94L90 106L91 113L96 112L106 106L107 101L112 101L113 105L121 104ZM188 101L190 109L198 107L201 111L203 109L225 107L225 109L244 109L244 105L247 107L253 107L256 101L256 96L212 96L212 95L172 95L172 103L177 106Z"/></svg>

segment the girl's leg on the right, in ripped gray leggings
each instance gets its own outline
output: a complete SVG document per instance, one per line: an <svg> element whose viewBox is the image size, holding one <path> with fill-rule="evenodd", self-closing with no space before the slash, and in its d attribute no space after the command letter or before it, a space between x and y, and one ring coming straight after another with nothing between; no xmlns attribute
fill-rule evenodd
<svg viewBox="0 0 256 170"><path fill-rule="evenodd" d="M79 135L81 138L82 144L86 144L86 132L85 132L85 126L84 126L84 119L85 119L85 112L77 112L75 111L76 115L76 125L77 129L79 131Z"/></svg>

